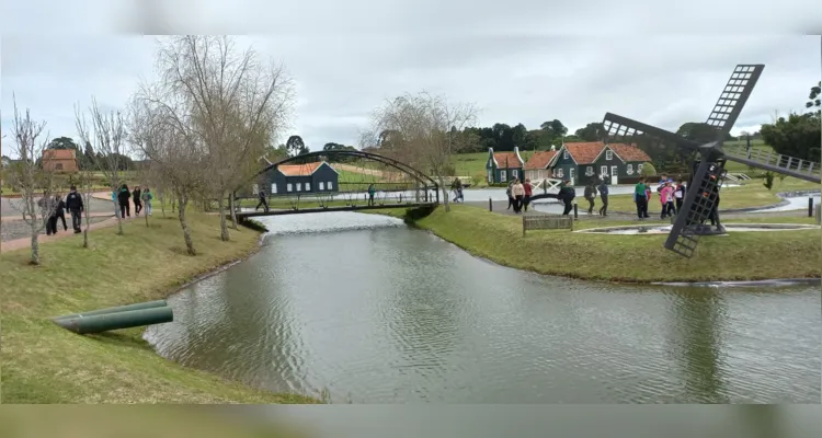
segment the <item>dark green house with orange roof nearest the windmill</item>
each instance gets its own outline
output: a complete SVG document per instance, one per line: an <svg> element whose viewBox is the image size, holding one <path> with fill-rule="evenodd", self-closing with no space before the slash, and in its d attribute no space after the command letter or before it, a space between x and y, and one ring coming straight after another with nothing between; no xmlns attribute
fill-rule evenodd
<svg viewBox="0 0 822 438"><path fill-rule="evenodd" d="M564 143L549 168L555 177L570 180L572 185L586 185L602 177L607 177L609 184L619 184L620 177L639 175L642 164L649 161L651 158L635 145L592 141Z"/></svg>

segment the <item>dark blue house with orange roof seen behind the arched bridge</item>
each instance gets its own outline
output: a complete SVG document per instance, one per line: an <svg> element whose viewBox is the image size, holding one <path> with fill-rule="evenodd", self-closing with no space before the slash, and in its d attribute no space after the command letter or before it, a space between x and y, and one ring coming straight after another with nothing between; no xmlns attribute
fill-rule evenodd
<svg viewBox="0 0 822 438"><path fill-rule="evenodd" d="M340 174L324 161L307 164L279 164L261 175L269 195L336 193ZM254 194L259 187L254 187Z"/></svg>

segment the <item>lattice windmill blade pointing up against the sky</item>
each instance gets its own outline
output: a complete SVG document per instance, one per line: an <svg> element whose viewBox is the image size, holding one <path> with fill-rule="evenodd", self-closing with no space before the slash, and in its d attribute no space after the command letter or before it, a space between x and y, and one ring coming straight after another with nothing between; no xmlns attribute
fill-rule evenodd
<svg viewBox="0 0 822 438"><path fill-rule="evenodd" d="M751 96L751 92L764 69L764 64L740 64L733 69L731 79L728 80L722 93L719 94L717 104L713 105L713 111L708 115L706 122L717 130L716 140L720 143L731 131L733 124L737 123L742 107L745 106L745 102Z"/></svg>

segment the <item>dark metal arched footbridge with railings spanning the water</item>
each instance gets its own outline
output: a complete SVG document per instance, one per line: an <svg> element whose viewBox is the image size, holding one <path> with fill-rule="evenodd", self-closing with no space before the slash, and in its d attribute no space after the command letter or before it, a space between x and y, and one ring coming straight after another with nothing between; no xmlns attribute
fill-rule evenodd
<svg viewBox="0 0 822 438"><path fill-rule="evenodd" d="M439 204L438 185L427 174L392 158L354 149L309 152L269 163L238 187L233 198L240 220Z"/></svg>

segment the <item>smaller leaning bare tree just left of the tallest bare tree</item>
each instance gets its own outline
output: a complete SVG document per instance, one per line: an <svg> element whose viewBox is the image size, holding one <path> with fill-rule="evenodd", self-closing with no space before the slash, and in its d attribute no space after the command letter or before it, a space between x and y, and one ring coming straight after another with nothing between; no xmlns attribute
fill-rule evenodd
<svg viewBox="0 0 822 438"><path fill-rule="evenodd" d="M173 107L155 103L153 93L152 89L146 88L133 100L128 117L129 139L172 191L186 252L196 255L185 214L209 171L203 153L205 147L189 130L187 120L180 118Z"/></svg>

